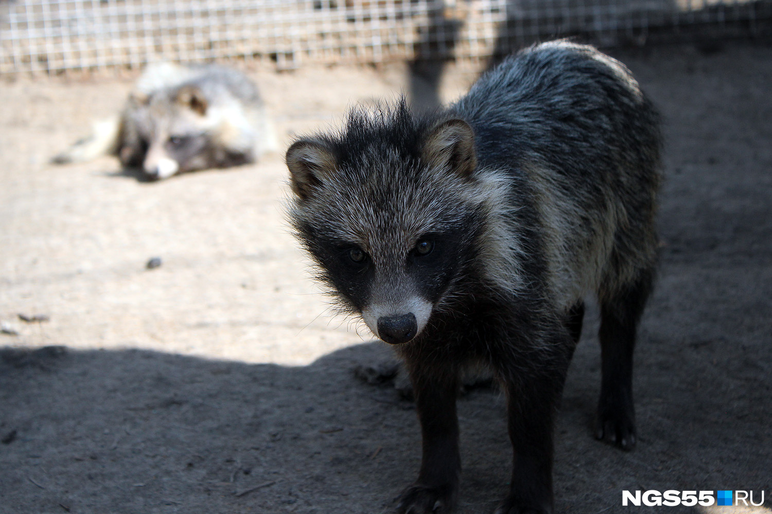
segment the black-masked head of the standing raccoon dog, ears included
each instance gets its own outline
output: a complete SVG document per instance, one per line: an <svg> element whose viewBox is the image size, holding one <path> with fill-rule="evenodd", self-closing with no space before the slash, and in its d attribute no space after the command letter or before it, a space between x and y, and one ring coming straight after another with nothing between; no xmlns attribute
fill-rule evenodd
<svg viewBox="0 0 772 514"><path fill-rule="evenodd" d="M379 338L410 341L464 294L491 194L469 124L418 119L404 102L354 111L339 135L296 141L286 163L296 236Z"/></svg>

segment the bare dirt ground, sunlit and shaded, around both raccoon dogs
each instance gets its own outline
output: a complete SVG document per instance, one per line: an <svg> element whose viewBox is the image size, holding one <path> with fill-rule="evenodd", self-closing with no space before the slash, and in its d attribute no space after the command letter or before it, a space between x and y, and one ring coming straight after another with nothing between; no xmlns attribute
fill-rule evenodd
<svg viewBox="0 0 772 514"><path fill-rule="evenodd" d="M591 437L588 314L557 425L557 512L638 512L625 489L764 490L753 512L772 512L772 45L612 53L666 120L662 266L634 452ZM404 66L254 76L285 145L408 88ZM442 98L472 79L449 70ZM160 183L107 157L47 163L129 87L0 84L0 321L18 333L0 334L0 512L391 512L418 469L415 410L354 376L388 348L330 318L283 221L281 156ZM471 391L459 415L458 512L492 512L510 464L502 399Z"/></svg>

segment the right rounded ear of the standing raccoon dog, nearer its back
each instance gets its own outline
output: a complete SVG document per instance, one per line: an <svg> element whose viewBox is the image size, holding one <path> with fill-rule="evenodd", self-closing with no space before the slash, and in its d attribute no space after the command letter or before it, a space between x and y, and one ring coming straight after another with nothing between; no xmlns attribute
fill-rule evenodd
<svg viewBox="0 0 772 514"><path fill-rule="evenodd" d="M422 146L424 159L464 178L477 167L475 133L463 119L449 119L432 129Z"/></svg>

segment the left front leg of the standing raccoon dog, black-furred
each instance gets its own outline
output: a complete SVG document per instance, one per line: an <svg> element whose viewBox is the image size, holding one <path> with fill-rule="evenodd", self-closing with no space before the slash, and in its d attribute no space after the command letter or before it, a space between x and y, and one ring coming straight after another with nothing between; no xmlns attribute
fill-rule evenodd
<svg viewBox="0 0 772 514"><path fill-rule="evenodd" d="M459 420L455 414L458 378L433 368L411 367L415 407L421 422L421 471L413 485L402 492L401 514L452 512L461 472Z"/></svg>

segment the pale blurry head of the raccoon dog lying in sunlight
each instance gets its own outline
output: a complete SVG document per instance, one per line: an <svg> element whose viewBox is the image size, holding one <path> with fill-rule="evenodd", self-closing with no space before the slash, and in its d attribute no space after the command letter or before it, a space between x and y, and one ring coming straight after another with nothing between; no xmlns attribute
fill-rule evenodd
<svg viewBox="0 0 772 514"><path fill-rule="evenodd" d="M197 86L161 89L130 98L130 114L147 147L142 167L155 179L211 166L218 120Z"/></svg>

